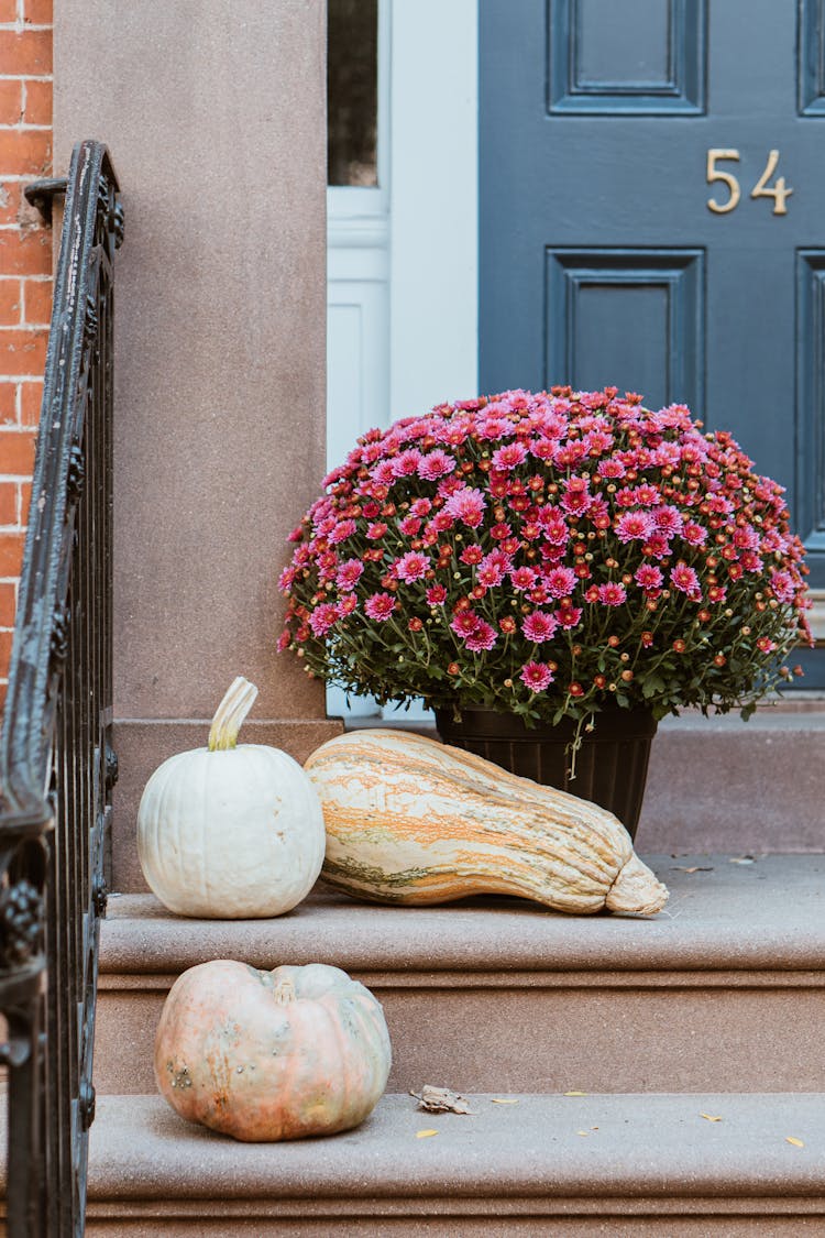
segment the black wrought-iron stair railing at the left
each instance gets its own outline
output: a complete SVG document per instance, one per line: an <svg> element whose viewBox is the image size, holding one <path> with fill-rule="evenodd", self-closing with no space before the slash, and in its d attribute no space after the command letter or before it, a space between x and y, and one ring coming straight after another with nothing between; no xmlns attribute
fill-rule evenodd
<svg viewBox="0 0 825 1238"><path fill-rule="evenodd" d="M0 739L0 1010L10 1238L82 1234L111 735L113 256L105 146L66 192L31 510ZM43 212L46 213L46 212Z"/></svg>

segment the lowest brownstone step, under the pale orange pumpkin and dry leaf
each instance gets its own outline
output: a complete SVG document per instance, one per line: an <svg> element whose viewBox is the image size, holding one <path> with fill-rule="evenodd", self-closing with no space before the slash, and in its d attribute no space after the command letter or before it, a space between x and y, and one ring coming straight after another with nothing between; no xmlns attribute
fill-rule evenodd
<svg viewBox="0 0 825 1238"><path fill-rule="evenodd" d="M341 1135L239 1144L184 1123L160 1097L100 1097L87 1236L824 1232L824 1096L470 1099L474 1112L459 1117L386 1096Z"/></svg>

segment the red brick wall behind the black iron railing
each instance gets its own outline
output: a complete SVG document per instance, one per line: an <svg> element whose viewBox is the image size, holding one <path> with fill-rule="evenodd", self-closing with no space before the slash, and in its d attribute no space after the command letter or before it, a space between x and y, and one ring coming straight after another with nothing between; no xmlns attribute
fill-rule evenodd
<svg viewBox="0 0 825 1238"><path fill-rule="evenodd" d="M52 300L52 235L22 189L51 172L52 0L0 0L0 707Z"/></svg>

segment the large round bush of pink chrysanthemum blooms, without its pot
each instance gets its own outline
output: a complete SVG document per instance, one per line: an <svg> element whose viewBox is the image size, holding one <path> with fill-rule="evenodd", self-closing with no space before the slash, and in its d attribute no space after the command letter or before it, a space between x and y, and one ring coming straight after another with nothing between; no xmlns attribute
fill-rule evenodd
<svg viewBox="0 0 825 1238"><path fill-rule="evenodd" d="M442 405L370 431L323 484L291 535L278 647L381 703L528 725L611 703L747 714L810 643L782 487L683 405Z"/></svg>

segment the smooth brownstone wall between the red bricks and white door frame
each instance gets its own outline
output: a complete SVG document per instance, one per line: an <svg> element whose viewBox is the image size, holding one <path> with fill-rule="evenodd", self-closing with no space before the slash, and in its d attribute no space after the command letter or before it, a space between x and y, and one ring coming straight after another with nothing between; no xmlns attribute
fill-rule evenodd
<svg viewBox="0 0 825 1238"><path fill-rule="evenodd" d="M323 0L61 0L56 166L105 141L115 277L115 743L120 812L205 740L235 675L303 755L322 686L277 655L284 539L325 427ZM116 860L116 855L115 855ZM118 874L115 873L115 879Z"/></svg>

